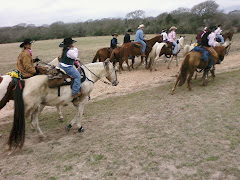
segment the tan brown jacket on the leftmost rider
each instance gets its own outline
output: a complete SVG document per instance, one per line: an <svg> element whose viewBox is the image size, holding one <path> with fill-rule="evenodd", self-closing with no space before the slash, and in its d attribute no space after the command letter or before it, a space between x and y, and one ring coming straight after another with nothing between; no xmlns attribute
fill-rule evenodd
<svg viewBox="0 0 240 180"><path fill-rule="evenodd" d="M32 55L24 49L18 56L16 69L21 72L23 78L32 77L36 73L33 63Z"/></svg>

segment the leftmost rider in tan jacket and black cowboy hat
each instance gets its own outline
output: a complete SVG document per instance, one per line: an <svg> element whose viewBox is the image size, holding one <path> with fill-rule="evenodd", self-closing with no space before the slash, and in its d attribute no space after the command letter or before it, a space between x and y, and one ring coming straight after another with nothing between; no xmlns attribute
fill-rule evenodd
<svg viewBox="0 0 240 180"><path fill-rule="evenodd" d="M21 73L22 78L29 78L38 74L37 68L33 65L34 62L39 61L38 58L32 58L31 47L33 42L34 41L30 39L25 39L23 43L20 44L22 51L18 56L16 69Z"/></svg>

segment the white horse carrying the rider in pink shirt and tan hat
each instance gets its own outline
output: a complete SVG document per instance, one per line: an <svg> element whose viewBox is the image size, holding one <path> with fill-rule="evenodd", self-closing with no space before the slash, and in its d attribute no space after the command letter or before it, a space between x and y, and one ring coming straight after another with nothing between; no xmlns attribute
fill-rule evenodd
<svg viewBox="0 0 240 180"><path fill-rule="evenodd" d="M171 57L171 59L170 59L170 61L169 61L169 63L168 63L168 66L167 66L168 69L170 68L170 64L171 64L173 58L176 59L176 66L178 66L178 58L177 58L177 55L178 55L178 53L180 52L180 50L183 48L184 36L180 36L180 38L178 39L178 41L179 41L179 43L178 43L177 54L176 54L176 55L173 55L173 56ZM149 56L150 56L150 58L153 59L153 62L152 62L152 64L151 64L151 67L154 67L154 68L150 68L150 70L151 70L151 69L155 69L155 70L156 70L155 64L156 64L156 61L157 61L157 60L160 58L160 56L162 55L162 54L161 54L161 50L162 50L162 48L163 48L164 46L167 46L167 43L164 43L164 42L162 42L162 43L155 43L155 45L153 46L153 49L152 49L152 51L151 51L151 53L150 53Z"/></svg>

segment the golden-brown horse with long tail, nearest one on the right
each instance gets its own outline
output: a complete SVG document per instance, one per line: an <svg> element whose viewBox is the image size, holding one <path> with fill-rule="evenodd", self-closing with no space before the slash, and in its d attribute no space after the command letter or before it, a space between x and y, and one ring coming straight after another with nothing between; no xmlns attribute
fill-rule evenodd
<svg viewBox="0 0 240 180"><path fill-rule="evenodd" d="M214 65L217 63L218 60L221 60L221 61L223 60L223 58L226 54L227 47L216 46L214 49L218 53L218 59L214 59L213 72L212 72L213 77L214 77ZM209 61L207 63L205 63L204 61L201 60L200 52L197 52L197 51L189 52L183 59L182 66L180 68L180 72L178 74L176 83L175 83L174 87L172 88L172 94L174 93L177 84L178 84L178 86L182 86L185 83L186 79L187 79L187 83L188 83L188 89L192 90L192 88L190 86L190 81L191 81L192 76L193 76L194 72L196 71L196 69L204 69L204 73L202 76L202 85L205 85L205 83L207 83L206 81L208 81L209 69L206 69L206 67L208 66L208 63L209 63Z"/></svg>

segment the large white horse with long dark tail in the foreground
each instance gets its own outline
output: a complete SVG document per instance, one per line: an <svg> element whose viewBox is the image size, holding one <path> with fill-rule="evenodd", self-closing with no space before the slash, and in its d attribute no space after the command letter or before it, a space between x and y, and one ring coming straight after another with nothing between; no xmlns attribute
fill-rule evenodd
<svg viewBox="0 0 240 180"><path fill-rule="evenodd" d="M14 98L14 122L8 140L9 149L21 148L23 146L25 140L25 117L30 115L32 126L38 129L41 137L45 137L38 124L39 105L61 106L73 101L72 103L76 108L76 115L68 125L68 130L77 121L78 131L83 131L80 120L88 96L93 90L94 83L103 77L106 77L113 86L119 83L115 68L110 62L90 63L83 66L83 69L87 79L81 84L82 95L74 101L70 85L62 86L61 92L63 93L58 96L57 88L48 87L47 75L38 75L23 81L25 86L22 93L14 93L17 97ZM16 89L19 88L17 87ZM22 106L19 106L19 104L22 104Z"/></svg>

